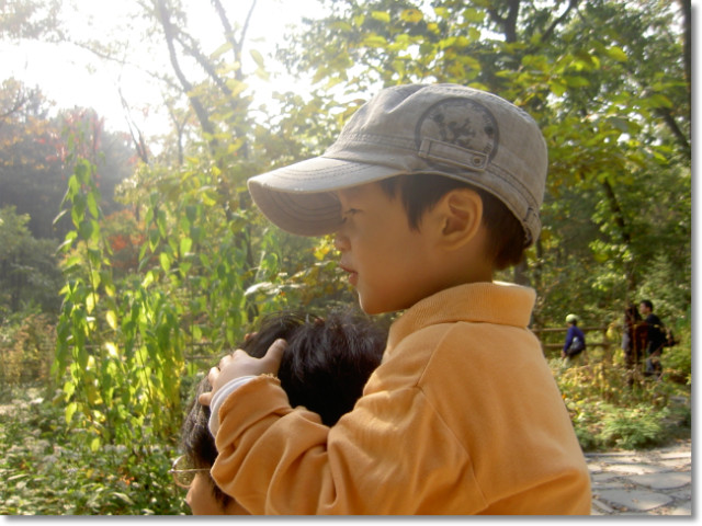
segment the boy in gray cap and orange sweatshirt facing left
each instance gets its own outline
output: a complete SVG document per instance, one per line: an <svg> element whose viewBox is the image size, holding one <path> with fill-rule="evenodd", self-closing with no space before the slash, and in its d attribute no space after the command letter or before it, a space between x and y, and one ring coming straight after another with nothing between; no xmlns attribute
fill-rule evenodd
<svg viewBox="0 0 702 526"><path fill-rule="evenodd" d="M217 484L254 514L588 514L589 472L526 328L535 294L492 283L539 236L546 163L507 101L399 85L321 157L252 178L281 228L336 232L364 311L406 310L332 427L272 377L285 342L225 356L208 376Z"/></svg>

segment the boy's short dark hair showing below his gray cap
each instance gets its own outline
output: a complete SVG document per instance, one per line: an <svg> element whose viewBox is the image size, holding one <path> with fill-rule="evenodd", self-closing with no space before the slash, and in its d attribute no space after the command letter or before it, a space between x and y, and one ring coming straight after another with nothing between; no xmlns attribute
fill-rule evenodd
<svg viewBox="0 0 702 526"><path fill-rule="evenodd" d="M483 201L483 225L490 232L488 256L491 256L495 268L500 271L522 261L524 229L509 208L489 192L465 181L431 173L397 175L380 181L380 185L389 197L395 197L399 191L409 226L415 230L419 230L422 215L452 190L468 188L476 192Z"/></svg>

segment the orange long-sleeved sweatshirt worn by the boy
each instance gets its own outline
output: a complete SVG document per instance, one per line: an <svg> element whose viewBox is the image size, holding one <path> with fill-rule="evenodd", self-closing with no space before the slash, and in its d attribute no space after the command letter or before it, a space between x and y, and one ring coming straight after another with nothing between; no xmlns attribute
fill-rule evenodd
<svg viewBox="0 0 702 526"><path fill-rule="evenodd" d="M253 514L590 513L590 477L532 289L457 286L408 309L333 427L259 376L218 412L217 484Z"/></svg>

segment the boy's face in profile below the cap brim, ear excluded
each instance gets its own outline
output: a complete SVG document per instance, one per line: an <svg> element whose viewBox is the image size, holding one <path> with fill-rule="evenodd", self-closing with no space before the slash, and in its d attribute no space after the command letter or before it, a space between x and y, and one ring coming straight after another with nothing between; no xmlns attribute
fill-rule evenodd
<svg viewBox="0 0 702 526"><path fill-rule="evenodd" d="M431 237L410 228L399 197L388 197L376 183L337 194L344 222L335 244L365 312L406 309L444 288L432 272Z"/></svg>

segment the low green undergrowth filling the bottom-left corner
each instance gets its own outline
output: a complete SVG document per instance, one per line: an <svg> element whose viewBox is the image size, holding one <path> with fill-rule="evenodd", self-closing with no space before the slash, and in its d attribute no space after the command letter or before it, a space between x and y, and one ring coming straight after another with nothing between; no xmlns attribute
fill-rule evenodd
<svg viewBox="0 0 702 526"><path fill-rule="evenodd" d="M0 407L1 515L188 513L168 473L171 450L138 444L92 450L86 432L69 428L61 413L29 392Z"/></svg>

